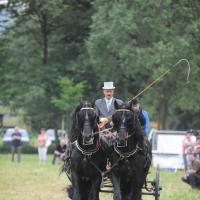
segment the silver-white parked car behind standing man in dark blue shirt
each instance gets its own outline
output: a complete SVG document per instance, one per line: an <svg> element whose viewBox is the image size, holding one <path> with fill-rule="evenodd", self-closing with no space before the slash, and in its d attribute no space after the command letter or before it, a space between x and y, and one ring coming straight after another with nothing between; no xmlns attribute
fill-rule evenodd
<svg viewBox="0 0 200 200"><path fill-rule="evenodd" d="M22 137L21 137L22 145L23 144L30 145L30 138L32 137L32 135L29 135L26 129L19 129L18 132L21 133L21 135L22 135ZM11 142L12 142L11 136L13 133L15 133L14 128L7 129L6 133L3 136L3 144L11 144Z"/></svg>

